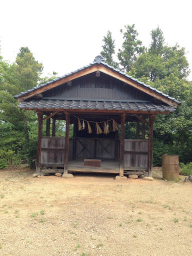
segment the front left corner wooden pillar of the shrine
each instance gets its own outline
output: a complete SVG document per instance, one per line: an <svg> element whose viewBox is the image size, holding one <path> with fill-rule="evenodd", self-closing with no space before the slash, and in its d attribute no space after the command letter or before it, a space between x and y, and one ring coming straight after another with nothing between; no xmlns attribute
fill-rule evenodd
<svg viewBox="0 0 192 256"><path fill-rule="evenodd" d="M38 140L36 152L36 173L40 173L40 153L41 153L41 138L42 138L42 116L41 112L37 112L38 116Z"/></svg>

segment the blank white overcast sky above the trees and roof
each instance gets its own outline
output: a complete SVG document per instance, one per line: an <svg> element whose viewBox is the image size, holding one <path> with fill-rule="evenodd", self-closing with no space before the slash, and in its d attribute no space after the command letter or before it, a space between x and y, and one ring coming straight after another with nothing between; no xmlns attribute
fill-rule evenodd
<svg viewBox="0 0 192 256"><path fill-rule="evenodd" d="M28 46L43 75L63 75L93 61L107 30L117 52L119 30L134 23L145 47L159 25L168 45L185 47L192 69L191 7L189 0L0 0L0 54L13 62Z"/></svg>

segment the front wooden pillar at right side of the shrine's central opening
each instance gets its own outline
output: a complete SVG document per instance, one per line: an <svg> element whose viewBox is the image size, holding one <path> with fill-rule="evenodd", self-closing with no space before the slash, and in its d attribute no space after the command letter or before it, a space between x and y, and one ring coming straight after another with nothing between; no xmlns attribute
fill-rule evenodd
<svg viewBox="0 0 192 256"><path fill-rule="evenodd" d="M120 170L119 176L123 176L124 171L124 122L126 113L121 114L120 121Z"/></svg>

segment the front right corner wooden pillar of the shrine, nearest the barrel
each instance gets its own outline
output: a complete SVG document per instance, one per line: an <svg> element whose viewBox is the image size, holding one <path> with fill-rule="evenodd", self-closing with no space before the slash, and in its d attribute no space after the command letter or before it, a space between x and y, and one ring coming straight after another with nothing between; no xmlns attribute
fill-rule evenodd
<svg viewBox="0 0 192 256"><path fill-rule="evenodd" d="M155 115L149 116L149 127L148 127L148 176L152 177L152 141L153 141L153 123Z"/></svg>

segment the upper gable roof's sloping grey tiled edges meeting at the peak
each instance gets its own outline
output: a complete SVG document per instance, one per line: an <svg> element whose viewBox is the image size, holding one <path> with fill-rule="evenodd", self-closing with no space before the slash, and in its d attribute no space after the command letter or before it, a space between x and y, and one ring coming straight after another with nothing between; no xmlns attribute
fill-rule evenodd
<svg viewBox="0 0 192 256"><path fill-rule="evenodd" d="M102 63L103 65L105 65L105 66L109 67L110 69L112 69L112 70L114 70L114 71L116 71L116 72L118 72L118 73L124 75L125 77L128 77L129 79L131 79L131 80L133 80L133 81L135 81L135 82L137 82L137 83L139 83L139 84L142 84L143 86L145 86L145 87L147 87L147 88L149 88L149 89L151 89L151 90L153 90L153 91L155 91L155 92L157 92L157 93L159 93L159 94L161 94L161 95L163 95L163 96L165 96L165 97L167 97L167 98L169 98L169 99L171 99L171 100L177 102L178 104L180 103L180 101L176 100L176 99L173 98L173 97L170 97L169 95L163 93L162 91L159 91L159 90L157 90L157 89L151 87L150 85L145 84L144 82L141 82L141 81L139 81L138 79L135 79L135 78L133 78L132 76L125 74L124 72L122 72L122 71L120 71L120 70L114 68L113 66L108 65L107 63L103 62L102 59L99 58L99 57L100 57L100 56L97 56L97 57L94 59L93 62L91 62L91 63L89 63L88 65L85 65L85 66L83 66L83 67L80 67L80 68L78 68L77 70L71 71L70 73L64 74L64 75L59 76L58 78L55 78L55 79L53 79L53 80L51 80L51 81L48 81L48 82L45 82L45 83L40 84L40 85L38 85L38 86L35 86L35 87L33 87L32 89L28 89L27 91L24 91L24 92L21 92L21 93L19 93L19 94L17 94L17 95L14 95L14 98L17 98L17 97L19 97L19 96L21 96L21 95L23 95L23 94L26 94L26 93L28 93L29 91L32 91L32 90L35 90L35 89L37 89L37 88L46 86L47 84L49 84L49 83L51 83L51 82L54 82L54 81L56 81L56 80L59 80L59 79L65 77L65 76L68 76L68 75L72 74L72 73L76 73L76 72L78 72L78 71L80 71L80 70L82 70L82 69L85 69L85 68L87 68L87 67L89 67L89 66L91 66L91 65L94 65L94 64L96 64L96 63Z"/></svg>

